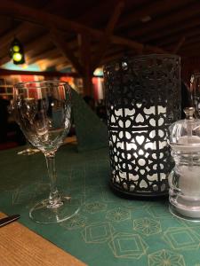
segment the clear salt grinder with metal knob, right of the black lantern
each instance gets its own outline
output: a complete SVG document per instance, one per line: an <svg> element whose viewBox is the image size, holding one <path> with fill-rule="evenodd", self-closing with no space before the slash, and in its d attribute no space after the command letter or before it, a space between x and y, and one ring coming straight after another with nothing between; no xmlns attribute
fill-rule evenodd
<svg viewBox="0 0 200 266"><path fill-rule="evenodd" d="M195 108L184 110L186 119L170 126L170 145L175 167L169 176L170 211L200 222L200 120Z"/></svg>

